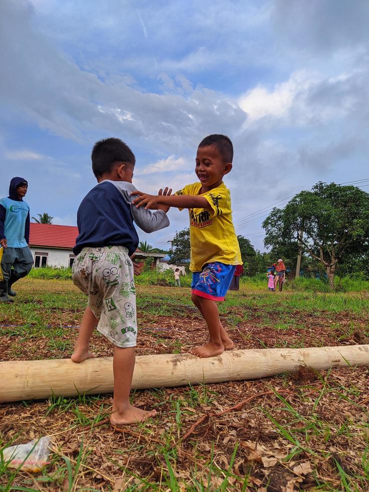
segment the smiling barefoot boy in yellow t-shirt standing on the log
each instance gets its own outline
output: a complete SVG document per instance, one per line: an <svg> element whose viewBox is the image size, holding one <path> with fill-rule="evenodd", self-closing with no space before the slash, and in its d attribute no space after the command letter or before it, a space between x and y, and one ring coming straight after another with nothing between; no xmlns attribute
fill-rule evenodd
<svg viewBox="0 0 369 492"><path fill-rule="evenodd" d="M160 204L189 209L192 301L209 330L209 342L191 350L198 357L218 355L233 348L216 305L216 301L224 300L236 265L242 264L232 223L230 193L223 183L223 176L232 169L232 160L230 139L209 135L197 149L195 173L200 182L186 185L171 196L132 193L139 195L133 201L137 207L156 208Z"/></svg>

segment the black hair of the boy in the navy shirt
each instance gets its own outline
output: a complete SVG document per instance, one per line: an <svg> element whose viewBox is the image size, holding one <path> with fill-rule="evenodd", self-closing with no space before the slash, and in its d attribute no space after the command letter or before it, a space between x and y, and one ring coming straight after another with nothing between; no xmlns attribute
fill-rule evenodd
<svg viewBox="0 0 369 492"><path fill-rule="evenodd" d="M92 171L96 178L111 171L115 162L129 162L135 165L135 154L120 139L103 139L93 146Z"/></svg>

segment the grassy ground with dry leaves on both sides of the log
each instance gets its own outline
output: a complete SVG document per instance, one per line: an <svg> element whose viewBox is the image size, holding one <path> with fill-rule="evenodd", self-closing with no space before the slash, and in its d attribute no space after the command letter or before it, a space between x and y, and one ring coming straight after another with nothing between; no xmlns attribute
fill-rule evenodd
<svg viewBox="0 0 369 492"><path fill-rule="evenodd" d="M16 302L0 305L0 360L69 357L85 297L69 280L18 285ZM206 340L188 288L141 285L137 304L138 355L186 352ZM270 294L242 285L220 310L236 349L369 343L367 292ZM112 355L97 332L92 350ZM137 391L134 404L158 416L124 434L103 423L111 395L2 404L0 447L50 435L53 452L31 475L7 469L0 451L0 490L369 490L368 380L367 367L305 368Z"/></svg>

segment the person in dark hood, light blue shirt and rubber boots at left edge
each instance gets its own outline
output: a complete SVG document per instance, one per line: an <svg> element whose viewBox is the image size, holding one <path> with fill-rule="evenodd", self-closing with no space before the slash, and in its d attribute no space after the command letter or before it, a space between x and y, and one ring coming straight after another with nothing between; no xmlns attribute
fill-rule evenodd
<svg viewBox="0 0 369 492"><path fill-rule="evenodd" d="M0 302L14 302L12 285L25 277L33 265L30 240L30 207L23 201L28 182L19 176L10 182L9 196L0 198Z"/></svg>

